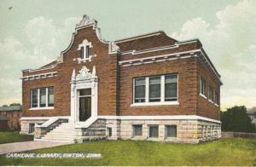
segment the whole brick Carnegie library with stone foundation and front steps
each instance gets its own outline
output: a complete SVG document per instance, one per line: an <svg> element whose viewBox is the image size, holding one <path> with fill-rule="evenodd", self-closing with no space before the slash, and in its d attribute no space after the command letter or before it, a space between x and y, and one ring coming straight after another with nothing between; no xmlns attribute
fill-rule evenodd
<svg viewBox="0 0 256 167"><path fill-rule="evenodd" d="M84 15L57 60L23 71L20 133L69 142L220 137L222 83L198 39L153 32L111 42L96 23Z"/></svg>

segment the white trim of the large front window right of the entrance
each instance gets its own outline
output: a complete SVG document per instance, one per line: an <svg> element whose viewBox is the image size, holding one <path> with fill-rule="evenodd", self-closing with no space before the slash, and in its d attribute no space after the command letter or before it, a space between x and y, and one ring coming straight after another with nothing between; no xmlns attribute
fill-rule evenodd
<svg viewBox="0 0 256 167"><path fill-rule="evenodd" d="M165 101L165 77L168 75L177 75L177 101ZM149 76L149 77L142 77L145 78L145 102L135 102L135 79L133 78L132 83L132 92L133 92L133 99L132 99L132 104L131 107L145 107L145 106L165 106L165 105L179 105L178 102L178 74L165 74L165 75L159 75L155 77L160 77L160 101L154 101L154 102L149 102L149 78L154 77L154 76Z"/></svg>

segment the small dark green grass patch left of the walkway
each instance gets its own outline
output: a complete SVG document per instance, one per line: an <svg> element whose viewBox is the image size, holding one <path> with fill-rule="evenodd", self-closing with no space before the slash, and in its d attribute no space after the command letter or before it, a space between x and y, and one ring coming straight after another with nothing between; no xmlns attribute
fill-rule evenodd
<svg viewBox="0 0 256 167"><path fill-rule="evenodd" d="M19 141L32 141L32 135L20 135L19 132L0 131L0 144Z"/></svg>

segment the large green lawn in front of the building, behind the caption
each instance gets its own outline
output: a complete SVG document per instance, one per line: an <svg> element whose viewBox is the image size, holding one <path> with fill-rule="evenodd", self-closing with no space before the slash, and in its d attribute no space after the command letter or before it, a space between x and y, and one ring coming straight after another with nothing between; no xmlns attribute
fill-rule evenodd
<svg viewBox="0 0 256 167"><path fill-rule="evenodd" d="M1 165L256 165L256 140L222 139L167 144L153 141L97 141L28 153L102 153L102 158L5 158Z"/></svg>

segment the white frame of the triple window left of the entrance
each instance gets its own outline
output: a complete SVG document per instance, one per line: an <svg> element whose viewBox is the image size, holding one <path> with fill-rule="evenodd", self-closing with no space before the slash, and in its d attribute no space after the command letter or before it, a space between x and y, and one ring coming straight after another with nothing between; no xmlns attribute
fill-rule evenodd
<svg viewBox="0 0 256 167"><path fill-rule="evenodd" d="M55 96L54 96L54 103L53 103L53 106L52 107L49 107L49 94L48 94L48 90L49 88L52 88L54 89L53 86L50 86L50 87L43 87L43 88L33 88L33 89L36 89L38 94L37 94L37 99L38 99L38 104L37 104L37 107L32 107L32 90L33 89L30 89L30 108L29 110L47 110L47 109L54 109L55 107ZM41 106L41 95L40 95L40 90L41 89L45 89L45 107L40 107ZM54 90L54 95L55 95L55 90Z"/></svg>

